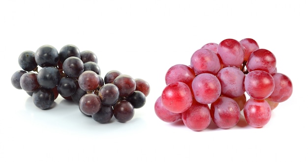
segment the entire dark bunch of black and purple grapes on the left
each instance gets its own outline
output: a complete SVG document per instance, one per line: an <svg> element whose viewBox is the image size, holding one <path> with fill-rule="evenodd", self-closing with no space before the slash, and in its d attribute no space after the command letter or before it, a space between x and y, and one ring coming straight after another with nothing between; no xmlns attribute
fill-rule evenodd
<svg viewBox="0 0 308 162"><path fill-rule="evenodd" d="M80 52L74 45L63 46L59 52L50 45L40 46L36 52L24 51L18 63L22 70L12 75L11 83L31 95L36 107L52 108L60 94L100 123L108 122L113 115L121 122L130 120L150 92L145 80L116 70L103 79L97 56L90 50Z"/></svg>

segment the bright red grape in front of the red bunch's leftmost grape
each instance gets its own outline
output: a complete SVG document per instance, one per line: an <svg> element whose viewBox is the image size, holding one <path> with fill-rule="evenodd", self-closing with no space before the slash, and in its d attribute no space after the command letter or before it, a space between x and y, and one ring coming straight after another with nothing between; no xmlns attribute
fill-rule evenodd
<svg viewBox="0 0 308 162"><path fill-rule="evenodd" d="M183 113L192 104L192 94L185 83L173 82L162 91L161 101L170 112Z"/></svg>

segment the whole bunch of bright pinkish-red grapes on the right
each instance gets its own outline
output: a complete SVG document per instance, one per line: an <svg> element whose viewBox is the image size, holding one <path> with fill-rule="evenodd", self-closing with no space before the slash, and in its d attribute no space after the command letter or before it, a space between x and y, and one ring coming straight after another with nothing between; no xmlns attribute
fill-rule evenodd
<svg viewBox="0 0 308 162"><path fill-rule="evenodd" d="M165 122L182 119L189 129L202 131L211 120L219 128L234 127L243 110L248 125L263 127L293 91L276 63L271 51L250 38L208 43L192 54L189 66L167 70L155 114Z"/></svg>

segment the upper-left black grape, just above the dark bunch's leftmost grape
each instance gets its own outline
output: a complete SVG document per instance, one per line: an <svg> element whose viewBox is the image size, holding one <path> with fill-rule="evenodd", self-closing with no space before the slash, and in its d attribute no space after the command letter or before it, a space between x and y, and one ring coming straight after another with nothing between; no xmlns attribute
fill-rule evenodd
<svg viewBox="0 0 308 162"><path fill-rule="evenodd" d="M26 71L34 70L37 67L34 57L35 52L31 50L22 52L18 57L19 66Z"/></svg>

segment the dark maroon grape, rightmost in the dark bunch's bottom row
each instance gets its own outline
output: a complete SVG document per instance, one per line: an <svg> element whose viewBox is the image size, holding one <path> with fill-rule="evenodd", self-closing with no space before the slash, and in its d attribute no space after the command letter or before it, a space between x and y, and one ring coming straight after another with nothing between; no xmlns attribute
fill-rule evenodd
<svg viewBox="0 0 308 162"><path fill-rule="evenodd" d="M126 122L133 118L135 110L130 102L120 100L113 106L113 114L118 121Z"/></svg>

